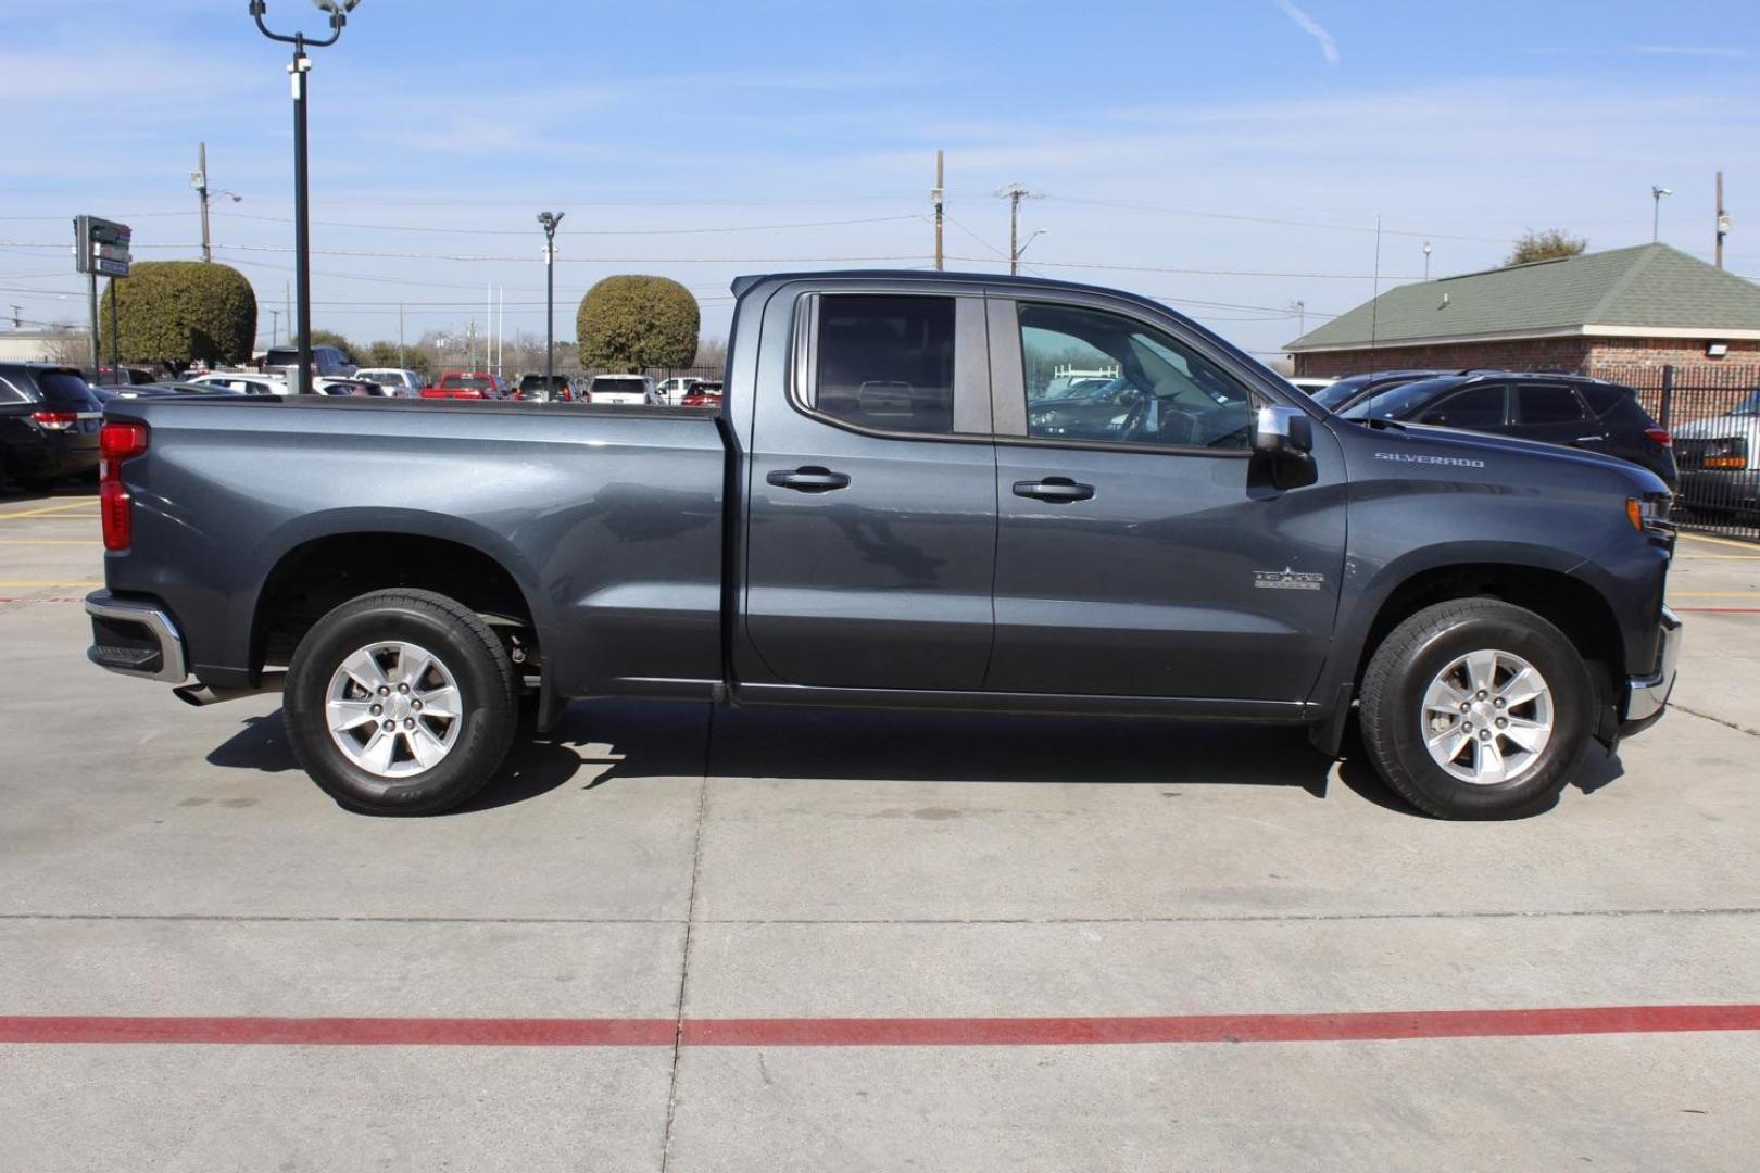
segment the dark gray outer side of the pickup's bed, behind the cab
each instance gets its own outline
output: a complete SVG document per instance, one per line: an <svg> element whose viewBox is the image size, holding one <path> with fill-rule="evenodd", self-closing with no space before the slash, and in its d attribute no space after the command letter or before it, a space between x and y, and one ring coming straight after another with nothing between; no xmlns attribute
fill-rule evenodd
<svg viewBox="0 0 1760 1173"><path fill-rule="evenodd" d="M334 535L350 535L338 594L394 580L398 559L498 563L551 633L544 674L565 695L708 696L720 681L715 412L285 396L118 401L109 419L150 429L123 482L134 549L151 550L107 554L109 589L164 600L211 686L285 661L259 607L278 568Z"/></svg>

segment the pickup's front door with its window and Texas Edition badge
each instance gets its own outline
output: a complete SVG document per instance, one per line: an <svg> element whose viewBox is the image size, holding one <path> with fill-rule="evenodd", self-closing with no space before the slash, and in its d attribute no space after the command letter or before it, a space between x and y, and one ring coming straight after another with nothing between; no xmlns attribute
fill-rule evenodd
<svg viewBox="0 0 1760 1173"><path fill-rule="evenodd" d="M1280 489L1255 396L1128 310L993 302L996 651L986 688L1304 700L1338 608L1345 477ZM1070 371L1084 371L1070 380Z"/></svg>

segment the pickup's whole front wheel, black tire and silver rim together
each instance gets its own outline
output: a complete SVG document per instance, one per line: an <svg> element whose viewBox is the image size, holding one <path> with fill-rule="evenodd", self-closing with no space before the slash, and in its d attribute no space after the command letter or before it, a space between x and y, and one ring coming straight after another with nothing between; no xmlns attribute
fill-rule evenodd
<svg viewBox="0 0 1760 1173"><path fill-rule="evenodd" d="M1362 740L1387 784L1438 818L1551 805L1589 742L1595 686L1565 633L1498 600L1427 607L1362 679Z"/></svg>

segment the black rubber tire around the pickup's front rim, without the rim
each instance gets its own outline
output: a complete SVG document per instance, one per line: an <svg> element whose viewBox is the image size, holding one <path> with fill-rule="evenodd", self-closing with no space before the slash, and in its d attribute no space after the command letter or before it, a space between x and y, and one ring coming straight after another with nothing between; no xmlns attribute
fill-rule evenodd
<svg viewBox="0 0 1760 1173"><path fill-rule="evenodd" d="M1431 682L1477 651L1522 658L1551 689L1551 740L1503 783L1463 781L1424 744ZM1382 640L1362 679L1360 723L1369 761L1417 809L1450 820L1521 818L1551 807L1582 760L1595 728L1595 684L1565 633L1535 612L1498 600L1456 600L1417 612Z"/></svg>

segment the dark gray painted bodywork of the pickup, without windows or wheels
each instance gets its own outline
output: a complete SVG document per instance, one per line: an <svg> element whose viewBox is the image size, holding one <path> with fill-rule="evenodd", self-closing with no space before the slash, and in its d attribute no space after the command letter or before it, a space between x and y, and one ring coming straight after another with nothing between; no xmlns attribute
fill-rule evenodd
<svg viewBox="0 0 1760 1173"><path fill-rule="evenodd" d="M401 399L118 403L111 415L146 420L153 440L123 471L136 547L109 556L109 587L162 600L195 674L241 684L260 668L257 594L290 550L336 533L431 535L519 584L553 700L727 684L753 703L1320 721L1401 582L1501 563L1595 589L1621 628L1619 668L1654 668L1668 550L1632 529L1624 499L1663 485L1630 464L1339 420L1202 327L1109 290L898 273L736 288L720 420ZM987 417L996 436L815 417L797 304L820 292L961 297L956 420ZM1260 401L1306 412L1308 484L1280 487L1258 455L1024 440L1017 295L1139 317ZM769 482L803 468L848 484ZM1047 477L1096 492L1049 505L1010 491ZM1253 586L1281 570L1324 586Z"/></svg>

